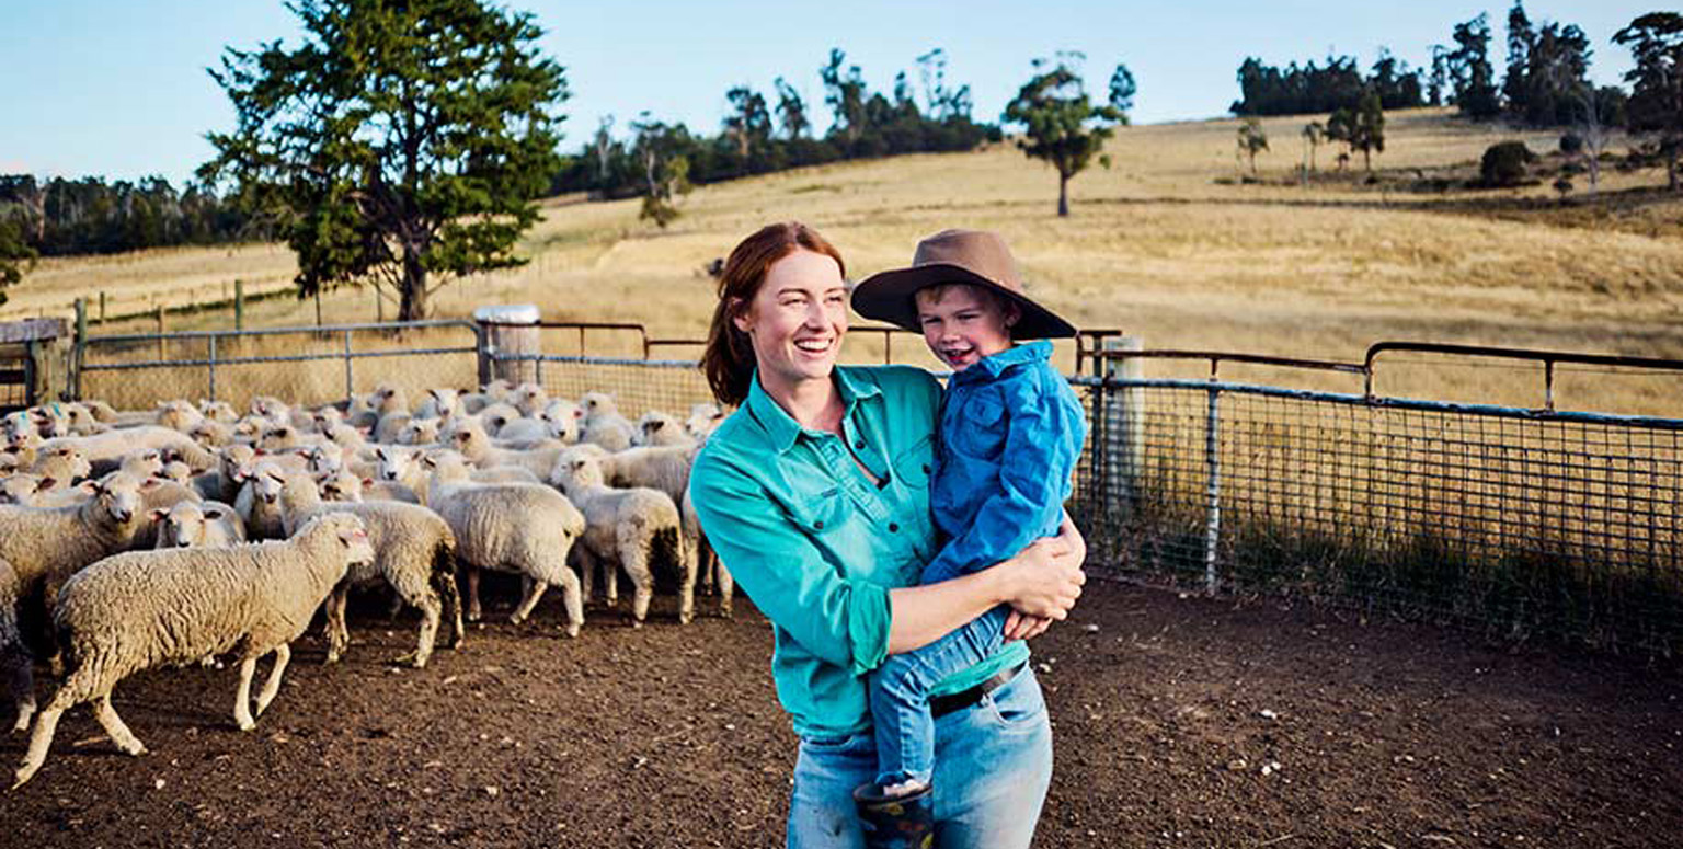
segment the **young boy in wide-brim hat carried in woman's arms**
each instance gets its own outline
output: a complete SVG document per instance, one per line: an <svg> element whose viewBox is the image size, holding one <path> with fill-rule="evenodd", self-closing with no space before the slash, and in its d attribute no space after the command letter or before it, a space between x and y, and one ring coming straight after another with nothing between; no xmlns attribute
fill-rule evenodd
<svg viewBox="0 0 1683 849"><path fill-rule="evenodd" d="M922 583L988 568L1055 536L1086 417L1043 340L1074 336L1075 328L1023 294L1005 242L974 230L932 235L919 242L912 267L860 282L853 308L921 331L953 366L929 499L948 541L924 567ZM1035 338L1042 341L1013 346ZM853 794L867 836L905 836L917 829L909 820L931 812L929 691L996 652L1008 612L1001 605L929 646L889 656L872 674L879 775Z"/></svg>

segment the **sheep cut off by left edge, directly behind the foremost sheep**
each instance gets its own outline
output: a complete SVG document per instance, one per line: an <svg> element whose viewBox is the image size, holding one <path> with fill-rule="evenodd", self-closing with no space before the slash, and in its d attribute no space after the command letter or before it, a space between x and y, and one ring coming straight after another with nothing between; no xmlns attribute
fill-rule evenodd
<svg viewBox="0 0 1683 849"><path fill-rule="evenodd" d="M10 629L0 625L0 639L17 637L17 605L45 602L57 595L57 585L82 567L130 546L141 525L140 481L114 474L88 484L94 494L81 504L64 508L0 506L0 599L10 599ZM0 642L0 659L15 657L22 646ZM29 728L35 713L30 667L13 671L12 698L17 725Z"/></svg>

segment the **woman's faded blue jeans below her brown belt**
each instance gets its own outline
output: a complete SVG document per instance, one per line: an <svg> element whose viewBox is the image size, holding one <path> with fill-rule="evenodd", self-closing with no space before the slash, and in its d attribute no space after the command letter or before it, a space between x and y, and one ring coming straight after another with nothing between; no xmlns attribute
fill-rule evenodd
<svg viewBox="0 0 1683 849"><path fill-rule="evenodd" d="M872 731L803 738L789 849L862 849L853 788L877 777ZM1033 669L936 720L936 846L1027 849L1052 783L1052 723Z"/></svg>

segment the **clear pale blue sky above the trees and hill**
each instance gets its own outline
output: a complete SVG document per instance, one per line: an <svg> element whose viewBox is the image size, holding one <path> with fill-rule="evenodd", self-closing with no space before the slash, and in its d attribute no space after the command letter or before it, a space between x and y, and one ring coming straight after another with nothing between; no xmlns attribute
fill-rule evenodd
<svg viewBox="0 0 1683 849"><path fill-rule="evenodd" d="M1336 52L1365 67L1385 45L1427 66L1429 47L1479 12L1491 17L1500 72L1508 10L1506 2L1451 0L512 5L537 15L549 30L544 47L567 69L564 150L577 148L599 116L618 116L623 129L643 109L714 133L729 87L769 92L778 76L806 96L823 126L818 67L830 47L847 50L872 89L884 91L900 69L916 84L916 57L944 47L948 79L968 82L976 116L990 121L1028 77L1032 59L1064 49L1087 54L1089 87L1101 96L1116 62L1133 69L1136 123L1210 118L1237 98L1234 71L1245 55L1286 64ZM1538 0L1526 12L1533 22L1582 27L1595 50L1592 77L1616 82L1631 59L1612 34L1659 7ZM0 173L162 173L180 183L210 155L204 133L234 119L205 67L226 45L298 40L296 18L278 0L5 0L0 22Z"/></svg>

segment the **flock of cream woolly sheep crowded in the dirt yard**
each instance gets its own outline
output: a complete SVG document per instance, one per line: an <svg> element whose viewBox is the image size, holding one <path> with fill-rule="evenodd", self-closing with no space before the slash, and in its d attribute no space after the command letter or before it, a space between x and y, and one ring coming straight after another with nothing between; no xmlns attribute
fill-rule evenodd
<svg viewBox="0 0 1683 849"><path fill-rule="evenodd" d="M577 403L542 387L493 382L427 390L411 407L379 387L350 403L293 407L259 397L241 415L224 402L162 402L118 412L101 402L49 403L0 422L0 691L30 731L13 787L45 762L59 716L81 703L118 748L145 746L111 708L111 689L141 669L239 662L234 721L251 730L279 691L289 642L323 609L327 661L348 647L353 585L387 585L421 610L427 664L441 627L463 642L480 619L480 572L520 575L510 620L557 587L564 630L577 635L597 577L606 602L631 580L641 625L655 567L678 577L678 620L695 585L732 582L688 501L690 464L724 419L619 415L589 392ZM274 666L251 698L256 662ZM57 689L35 701L35 661ZM32 726L34 721L34 726Z"/></svg>

